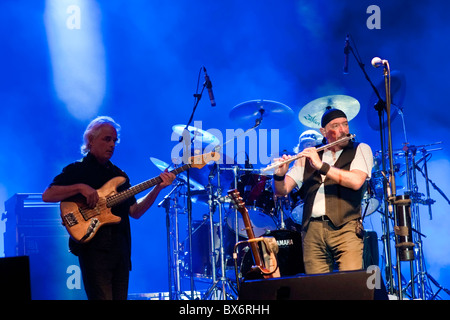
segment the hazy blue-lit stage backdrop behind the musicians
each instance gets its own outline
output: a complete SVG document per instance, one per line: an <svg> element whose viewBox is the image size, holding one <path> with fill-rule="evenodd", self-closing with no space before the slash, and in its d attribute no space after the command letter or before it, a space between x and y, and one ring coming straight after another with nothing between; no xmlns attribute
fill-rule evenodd
<svg viewBox="0 0 450 320"><path fill-rule="evenodd" d="M381 10L381 29L366 25L373 4ZM80 8L79 28L66 24L73 18L70 5ZM229 118L234 106L274 100L294 111L279 131L280 149L291 149L308 129L297 118L301 108L319 97L344 94L361 106L351 132L379 150L379 131L368 125L372 88L352 55L349 74L342 72L347 34L375 84L383 81L382 69L370 64L375 56L404 73L407 141L442 142L442 150L432 152L429 177L449 195L449 10L446 1L422 0L3 0L0 208L16 193L42 192L63 166L79 159L82 133L97 115L122 125L113 161L133 184L158 175L149 158L170 162L176 144L172 126L188 121L202 66L217 101L212 108L205 92L198 105L194 120L202 121L204 130L242 127ZM392 133L394 149L402 148L399 116ZM420 173L418 183L424 193ZM427 271L450 287L450 207L434 189L431 198L436 200L432 219L420 206ZM207 210L195 205L194 218ZM380 230L380 215L365 224ZM4 231L4 221L0 228ZM132 232L130 292L167 291L164 210L149 210L132 222ZM0 255L2 247L0 239Z"/></svg>

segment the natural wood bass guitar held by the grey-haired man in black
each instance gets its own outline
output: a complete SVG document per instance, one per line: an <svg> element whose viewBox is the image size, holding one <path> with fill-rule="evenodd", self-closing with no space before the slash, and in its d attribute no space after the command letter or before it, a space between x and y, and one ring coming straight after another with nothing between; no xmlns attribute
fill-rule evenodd
<svg viewBox="0 0 450 320"><path fill-rule="evenodd" d="M190 168L201 169L211 161L218 161L219 158L220 154L218 152L193 156L189 158L187 164L170 172L177 175ZM158 176L122 192L117 192L117 188L125 181L125 177L115 177L98 189L99 200L95 208L89 208L84 199L61 201L60 211L62 224L72 239L79 243L88 242L96 235L101 226L119 223L121 218L112 214L111 208L157 185L162 180Z"/></svg>

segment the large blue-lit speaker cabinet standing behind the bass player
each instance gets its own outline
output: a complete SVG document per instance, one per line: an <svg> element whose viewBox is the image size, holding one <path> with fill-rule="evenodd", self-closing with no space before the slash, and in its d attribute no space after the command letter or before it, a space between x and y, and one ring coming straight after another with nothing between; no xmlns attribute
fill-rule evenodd
<svg viewBox="0 0 450 320"><path fill-rule="evenodd" d="M40 193L20 193L5 201L5 209L5 256L28 257L32 299L86 299L59 204L43 202Z"/></svg>

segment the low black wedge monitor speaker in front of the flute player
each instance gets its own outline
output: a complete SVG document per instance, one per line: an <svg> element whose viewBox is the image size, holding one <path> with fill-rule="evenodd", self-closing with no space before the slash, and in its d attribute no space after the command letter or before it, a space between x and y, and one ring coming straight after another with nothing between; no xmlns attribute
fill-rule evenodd
<svg viewBox="0 0 450 320"><path fill-rule="evenodd" d="M387 300L383 281L372 277L362 270L246 281L239 300Z"/></svg>

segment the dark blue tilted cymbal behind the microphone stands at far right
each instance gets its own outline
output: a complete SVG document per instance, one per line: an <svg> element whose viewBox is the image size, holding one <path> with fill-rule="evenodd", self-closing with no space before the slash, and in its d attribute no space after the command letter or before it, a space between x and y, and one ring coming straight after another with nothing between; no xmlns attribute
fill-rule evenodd
<svg viewBox="0 0 450 320"><path fill-rule="evenodd" d="M378 93L380 94L383 108L383 124L382 128L387 126L387 113L386 113L386 86L383 79L381 79L376 85ZM406 91L406 78L405 75L397 70L391 72L391 123L395 120L399 112L403 111L403 100L405 99ZM378 110L375 108L379 99L375 92L372 93L369 103L367 104L367 120L369 126L374 130L380 130L380 117L378 115Z"/></svg>

